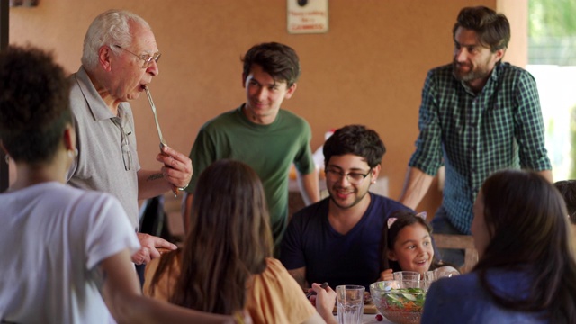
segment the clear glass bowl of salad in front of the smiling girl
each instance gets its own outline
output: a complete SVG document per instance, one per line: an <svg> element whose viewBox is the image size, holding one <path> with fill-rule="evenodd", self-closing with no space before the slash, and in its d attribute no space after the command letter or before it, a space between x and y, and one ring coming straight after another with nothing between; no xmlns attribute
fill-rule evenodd
<svg viewBox="0 0 576 324"><path fill-rule="evenodd" d="M390 280L370 285L372 302L383 316L396 324L418 324L428 291L426 281Z"/></svg>

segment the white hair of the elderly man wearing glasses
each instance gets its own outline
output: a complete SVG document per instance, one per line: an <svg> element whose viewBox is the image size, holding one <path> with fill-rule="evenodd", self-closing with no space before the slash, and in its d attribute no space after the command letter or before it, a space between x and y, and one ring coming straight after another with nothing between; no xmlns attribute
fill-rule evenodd
<svg viewBox="0 0 576 324"><path fill-rule="evenodd" d="M131 45L130 23L139 23L139 25L150 29L142 17L126 10L112 9L94 18L94 22L90 24L84 37L82 65L86 70L93 70L97 66L98 51L103 45L110 46L114 52L118 52L120 49L113 45L122 48Z"/></svg>

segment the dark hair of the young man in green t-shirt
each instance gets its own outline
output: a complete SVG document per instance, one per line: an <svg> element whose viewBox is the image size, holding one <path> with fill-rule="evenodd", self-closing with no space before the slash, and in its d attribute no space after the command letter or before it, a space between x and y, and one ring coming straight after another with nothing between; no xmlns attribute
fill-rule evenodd
<svg viewBox="0 0 576 324"><path fill-rule="evenodd" d="M267 42L254 45L248 49L244 58L244 80L250 74L254 64L272 76L275 81L286 82L288 87L298 81L300 77L300 59L291 47L277 42Z"/></svg>

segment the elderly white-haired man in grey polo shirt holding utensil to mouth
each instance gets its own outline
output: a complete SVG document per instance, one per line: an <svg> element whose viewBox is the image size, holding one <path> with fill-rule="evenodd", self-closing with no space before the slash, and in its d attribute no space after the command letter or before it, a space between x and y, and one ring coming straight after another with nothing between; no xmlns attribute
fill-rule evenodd
<svg viewBox="0 0 576 324"><path fill-rule="evenodd" d="M68 183L116 196L139 230L138 201L169 190L184 190L192 177L192 161L163 147L158 170L142 170L136 150L130 100L138 99L158 75L160 53L150 26L136 14L112 10L98 15L84 40L82 67L70 76L78 156ZM159 257L157 247L175 249L162 238L138 234L137 265Z"/></svg>

